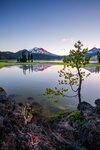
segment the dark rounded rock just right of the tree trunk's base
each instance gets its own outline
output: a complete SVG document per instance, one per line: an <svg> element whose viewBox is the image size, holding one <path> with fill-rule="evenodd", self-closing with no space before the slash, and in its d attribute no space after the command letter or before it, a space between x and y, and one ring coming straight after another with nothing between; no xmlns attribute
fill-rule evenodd
<svg viewBox="0 0 100 150"><path fill-rule="evenodd" d="M86 110L88 110L88 111L93 111L93 106L92 105L90 105L89 103L87 103L87 102L81 102L81 104L78 104L78 110L83 110L83 111L86 111Z"/></svg>

